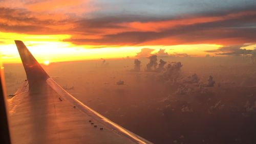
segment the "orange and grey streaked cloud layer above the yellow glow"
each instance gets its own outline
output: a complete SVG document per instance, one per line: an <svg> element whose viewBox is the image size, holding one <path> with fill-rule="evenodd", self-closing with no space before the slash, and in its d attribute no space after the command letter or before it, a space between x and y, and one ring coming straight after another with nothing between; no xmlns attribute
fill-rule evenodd
<svg viewBox="0 0 256 144"><path fill-rule="evenodd" d="M126 3L126 1L122 2ZM227 2L230 5L224 5L226 9L218 11L211 8L196 11L194 5L203 7L204 3L193 1L189 2L193 7L190 11L179 11L176 15L168 12L167 15L161 15L151 11L150 7L156 5L155 2L151 5L137 2L141 9L145 9L139 10L128 5L127 8L130 7L130 11L116 13L120 9L112 6L113 3L112 1L108 4L105 1L93 3L79 0L72 3L58 0L1 1L0 31L25 34L69 34L71 38L65 41L80 45L255 43L256 4L253 1L248 1L244 5L238 5L240 3L237 1ZM173 4L173 2L170 3ZM221 4L214 1L210 3L212 6ZM101 10L104 4L106 7ZM169 3L163 1L163 4ZM155 9L158 9L158 5ZM148 11L148 13L140 13L140 11Z"/></svg>

